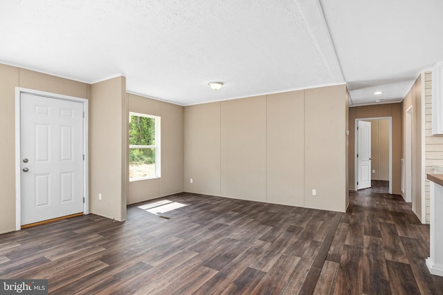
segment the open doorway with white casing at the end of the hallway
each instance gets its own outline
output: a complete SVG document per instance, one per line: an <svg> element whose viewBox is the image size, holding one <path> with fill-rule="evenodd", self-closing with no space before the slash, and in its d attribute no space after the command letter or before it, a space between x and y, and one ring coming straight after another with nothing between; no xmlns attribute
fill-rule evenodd
<svg viewBox="0 0 443 295"><path fill-rule="evenodd" d="M370 122L370 146L371 151L368 151L370 160L370 169L359 160L361 153L365 153L362 145L367 144L365 140L362 142L362 137L365 137L364 132L358 129L362 122ZM359 134L360 133L360 134ZM359 186L360 180L371 182L372 180L388 181L389 193L392 194L392 117L367 117L355 120L355 143L354 143L354 184L355 191L362 187ZM364 160L364 159L362 159ZM360 166L359 166L360 164ZM368 172L366 172L368 170ZM369 173L364 174L363 173ZM369 178L369 179L364 179Z"/></svg>

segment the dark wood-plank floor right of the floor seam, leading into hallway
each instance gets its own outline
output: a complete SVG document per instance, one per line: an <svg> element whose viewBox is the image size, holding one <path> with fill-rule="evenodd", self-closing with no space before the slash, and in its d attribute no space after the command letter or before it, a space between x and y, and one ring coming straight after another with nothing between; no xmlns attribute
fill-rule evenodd
<svg viewBox="0 0 443 295"><path fill-rule="evenodd" d="M410 203L388 194L388 182L372 181L372 188L350 192L322 272L338 269L334 294L443 294L428 256L429 226Z"/></svg>

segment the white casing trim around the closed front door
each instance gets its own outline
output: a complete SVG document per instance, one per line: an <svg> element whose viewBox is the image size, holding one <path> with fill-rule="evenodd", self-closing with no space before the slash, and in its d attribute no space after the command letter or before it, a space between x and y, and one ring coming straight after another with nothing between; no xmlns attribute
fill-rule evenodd
<svg viewBox="0 0 443 295"><path fill-rule="evenodd" d="M21 229L21 173L20 173L20 122L21 109L20 97L21 93L30 93L33 95L41 95L53 99L69 100L71 102L80 102L83 106L83 213L89 214L89 101L88 99L73 97L69 95L61 95L57 93L49 93L46 91L37 91L34 89L15 87L15 230Z"/></svg>

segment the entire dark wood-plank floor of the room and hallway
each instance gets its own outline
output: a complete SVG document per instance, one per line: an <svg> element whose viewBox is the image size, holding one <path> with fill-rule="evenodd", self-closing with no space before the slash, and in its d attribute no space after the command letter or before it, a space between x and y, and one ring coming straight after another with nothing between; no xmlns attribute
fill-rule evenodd
<svg viewBox="0 0 443 295"><path fill-rule="evenodd" d="M180 193L126 222L0 235L0 278L47 278L51 294L443 294L428 252L429 227L383 182L347 213Z"/></svg>

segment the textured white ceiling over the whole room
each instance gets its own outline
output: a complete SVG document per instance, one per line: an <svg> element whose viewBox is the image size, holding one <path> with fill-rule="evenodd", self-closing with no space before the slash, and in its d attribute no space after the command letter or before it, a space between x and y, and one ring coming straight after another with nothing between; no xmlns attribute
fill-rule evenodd
<svg viewBox="0 0 443 295"><path fill-rule="evenodd" d="M0 0L0 63L87 83L123 74L127 91L181 105L344 82L354 104L376 88L399 101L443 60L442 3Z"/></svg>

